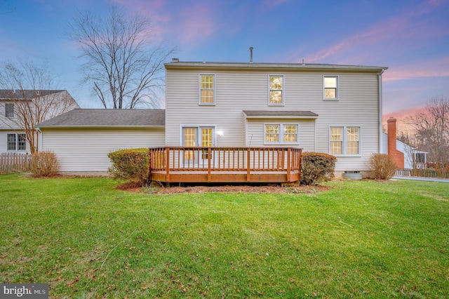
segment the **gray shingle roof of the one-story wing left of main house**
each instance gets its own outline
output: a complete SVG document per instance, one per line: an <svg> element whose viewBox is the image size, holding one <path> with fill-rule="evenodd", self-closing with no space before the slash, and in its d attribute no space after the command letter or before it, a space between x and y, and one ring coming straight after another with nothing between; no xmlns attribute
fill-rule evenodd
<svg viewBox="0 0 449 299"><path fill-rule="evenodd" d="M38 124L38 128L165 126L164 109L73 109Z"/></svg>

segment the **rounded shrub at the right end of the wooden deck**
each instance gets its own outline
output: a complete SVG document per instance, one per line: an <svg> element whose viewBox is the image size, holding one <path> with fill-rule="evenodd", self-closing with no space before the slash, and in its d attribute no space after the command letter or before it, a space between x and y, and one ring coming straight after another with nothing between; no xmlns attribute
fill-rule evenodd
<svg viewBox="0 0 449 299"><path fill-rule="evenodd" d="M302 153L301 185L314 185L332 180L337 158L321 152Z"/></svg>

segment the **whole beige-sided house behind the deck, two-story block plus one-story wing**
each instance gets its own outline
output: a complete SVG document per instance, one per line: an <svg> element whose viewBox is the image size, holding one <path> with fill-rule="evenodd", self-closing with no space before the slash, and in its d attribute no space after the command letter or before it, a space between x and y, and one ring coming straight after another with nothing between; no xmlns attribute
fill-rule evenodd
<svg viewBox="0 0 449 299"><path fill-rule="evenodd" d="M145 123L147 131L135 135L138 142L129 141L128 147L299 147L335 155L337 173L368 171L370 155L382 149L382 73L387 67L177 59L165 67L163 125L161 119ZM95 113L105 117L100 110L89 112L94 118ZM150 119L156 115L151 110L143 113ZM119 114L112 110L108 117L119 119ZM129 124L131 119L128 115L120 124L93 124L63 114L39 125L41 150L65 157L61 161L65 172L107 171L109 161L104 156L116 149L112 140L126 138L135 128ZM119 127L120 132L109 135L113 139L105 140L104 130ZM83 134L99 141L84 143ZM119 143L126 147L126 142ZM102 162L94 170L92 164L75 161L76 150L98 152L95 157Z"/></svg>

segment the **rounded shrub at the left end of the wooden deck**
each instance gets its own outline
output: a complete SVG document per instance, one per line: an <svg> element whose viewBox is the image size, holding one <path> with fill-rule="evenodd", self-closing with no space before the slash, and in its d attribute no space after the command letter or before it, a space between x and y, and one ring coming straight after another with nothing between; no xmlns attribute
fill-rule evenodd
<svg viewBox="0 0 449 299"><path fill-rule="evenodd" d="M114 178L129 180L140 187L147 184L149 176L147 148L118 150L110 152L107 157L112 161L109 173L114 175Z"/></svg>

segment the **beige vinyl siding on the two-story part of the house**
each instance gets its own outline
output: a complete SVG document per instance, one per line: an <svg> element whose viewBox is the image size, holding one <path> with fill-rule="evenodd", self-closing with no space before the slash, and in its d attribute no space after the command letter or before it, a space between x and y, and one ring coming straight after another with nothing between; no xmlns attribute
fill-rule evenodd
<svg viewBox="0 0 449 299"><path fill-rule="evenodd" d="M215 74L215 106L198 105L198 74L201 70L167 69L166 73L166 144L180 145L180 126L216 126L222 131L217 146L255 145L252 127L242 125L242 110L301 110L319 114L314 123L314 138L302 130L309 120L300 121L300 147L304 151L329 152L330 126L361 128L361 157L339 157L336 170L366 171L370 154L378 151L379 96L377 74L363 72L314 72L286 69L220 70ZM284 76L284 106L268 105L268 77ZM323 75L338 76L338 100L323 100ZM290 121L290 119L288 120ZM266 121L262 121L266 122ZM283 121L285 123L286 121ZM308 124L308 123L307 123ZM313 124L313 121L310 121ZM309 128L306 126L305 128ZM260 127L259 136L263 136ZM260 141L263 141L258 137ZM263 138L263 137L262 137ZM263 145L263 143L260 143Z"/></svg>

